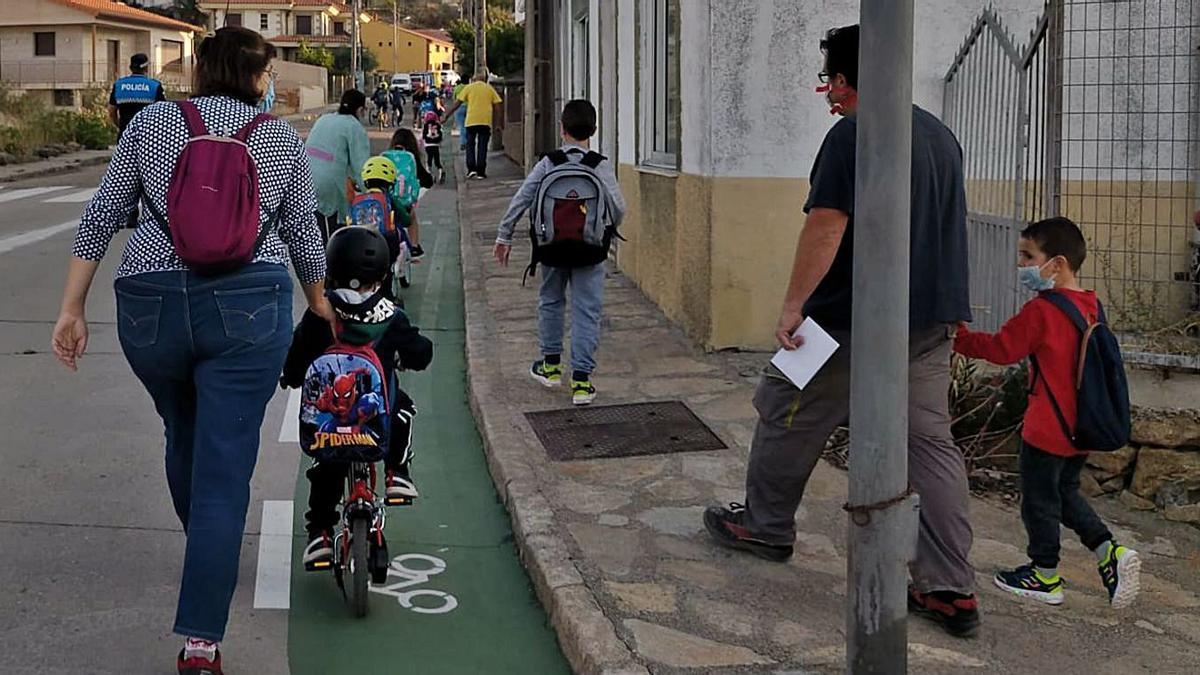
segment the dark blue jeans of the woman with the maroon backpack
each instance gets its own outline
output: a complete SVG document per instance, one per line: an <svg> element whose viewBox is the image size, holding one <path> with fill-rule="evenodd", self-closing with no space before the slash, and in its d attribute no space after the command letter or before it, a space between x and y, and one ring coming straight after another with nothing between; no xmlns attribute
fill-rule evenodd
<svg viewBox="0 0 1200 675"><path fill-rule="evenodd" d="M187 536L174 629L220 640L259 429L292 342L292 277L256 263L215 279L139 274L115 288L116 334L162 417L167 484Z"/></svg>

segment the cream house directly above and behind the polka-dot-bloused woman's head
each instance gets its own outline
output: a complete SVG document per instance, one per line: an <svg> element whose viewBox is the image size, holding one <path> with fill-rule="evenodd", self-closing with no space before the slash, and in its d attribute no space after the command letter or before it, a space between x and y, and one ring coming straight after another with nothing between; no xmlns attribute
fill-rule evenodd
<svg viewBox="0 0 1200 675"><path fill-rule="evenodd" d="M350 46L350 7L331 0L202 0L208 30L240 25L257 30L280 58L294 61L301 43Z"/></svg>

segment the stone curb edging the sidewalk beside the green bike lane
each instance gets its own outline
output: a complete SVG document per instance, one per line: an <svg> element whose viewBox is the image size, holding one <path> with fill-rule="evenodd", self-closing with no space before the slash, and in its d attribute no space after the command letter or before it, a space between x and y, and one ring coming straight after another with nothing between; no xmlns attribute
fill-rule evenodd
<svg viewBox="0 0 1200 675"><path fill-rule="evenodd" d="M504 159L508 161L508 159ZM467 393L470 411L479 425L484 453L492 482L499 492L509 518L521 561L529 572L534 590L550 615L559 646L571 669L581 675L649 675L637 663L630 647L617 637L612 622L605 616L583 581L571 552L566 548L550 501L541 494L534 467L529 464L533 452L528 436L514 419L521 411L508 405L485 407L481 401L499 400L500 374L485 364L499 364L494 347L481 330L488 316L487 300L470 287L482 287L484 275L468 261L474 233L463 215L467 199L466 167L455 159L455 183L458 195L458 245L462 255L464 293L464 323L467 328Z"/></svg>

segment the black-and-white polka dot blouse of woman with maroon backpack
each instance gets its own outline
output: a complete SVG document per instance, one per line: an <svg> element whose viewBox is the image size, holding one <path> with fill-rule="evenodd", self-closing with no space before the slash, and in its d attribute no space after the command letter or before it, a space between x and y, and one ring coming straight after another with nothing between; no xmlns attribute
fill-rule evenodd
<svg viewBox="0 0 1200 675"><path fill-rule="evenodd" d="M224 96L193 101L209 131L222 136L233 136L257 114L254 108ZM130 121L100 190L83 213L72 247L74 256L86 261L103 258L143 190L160 213L167 213L170 174L187 139L184 113L170 102L149 106ZM254 261L286 265L290 257L301 282L323 280L325 251L317 228L317 196L300 136L288 123L271 120L251 133L248 145L258 167L259 227L266 227L280 211L275 231L268 233ZM116 276L187 270L167 233L148 209L142 211L140 227L125 246Z"/></svg>

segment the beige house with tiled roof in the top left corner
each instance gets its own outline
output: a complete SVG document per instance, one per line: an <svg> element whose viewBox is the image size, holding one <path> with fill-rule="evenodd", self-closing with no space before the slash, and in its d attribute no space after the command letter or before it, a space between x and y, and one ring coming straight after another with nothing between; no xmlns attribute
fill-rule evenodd
<svg viewBox="0 0 1200 675"><path fill-rule="evenodd" d="M202 26L115 0L0 2L0 82L47 104L78 107L150 56L150 74L169 89L192 79L192 44Z"/></svg>

